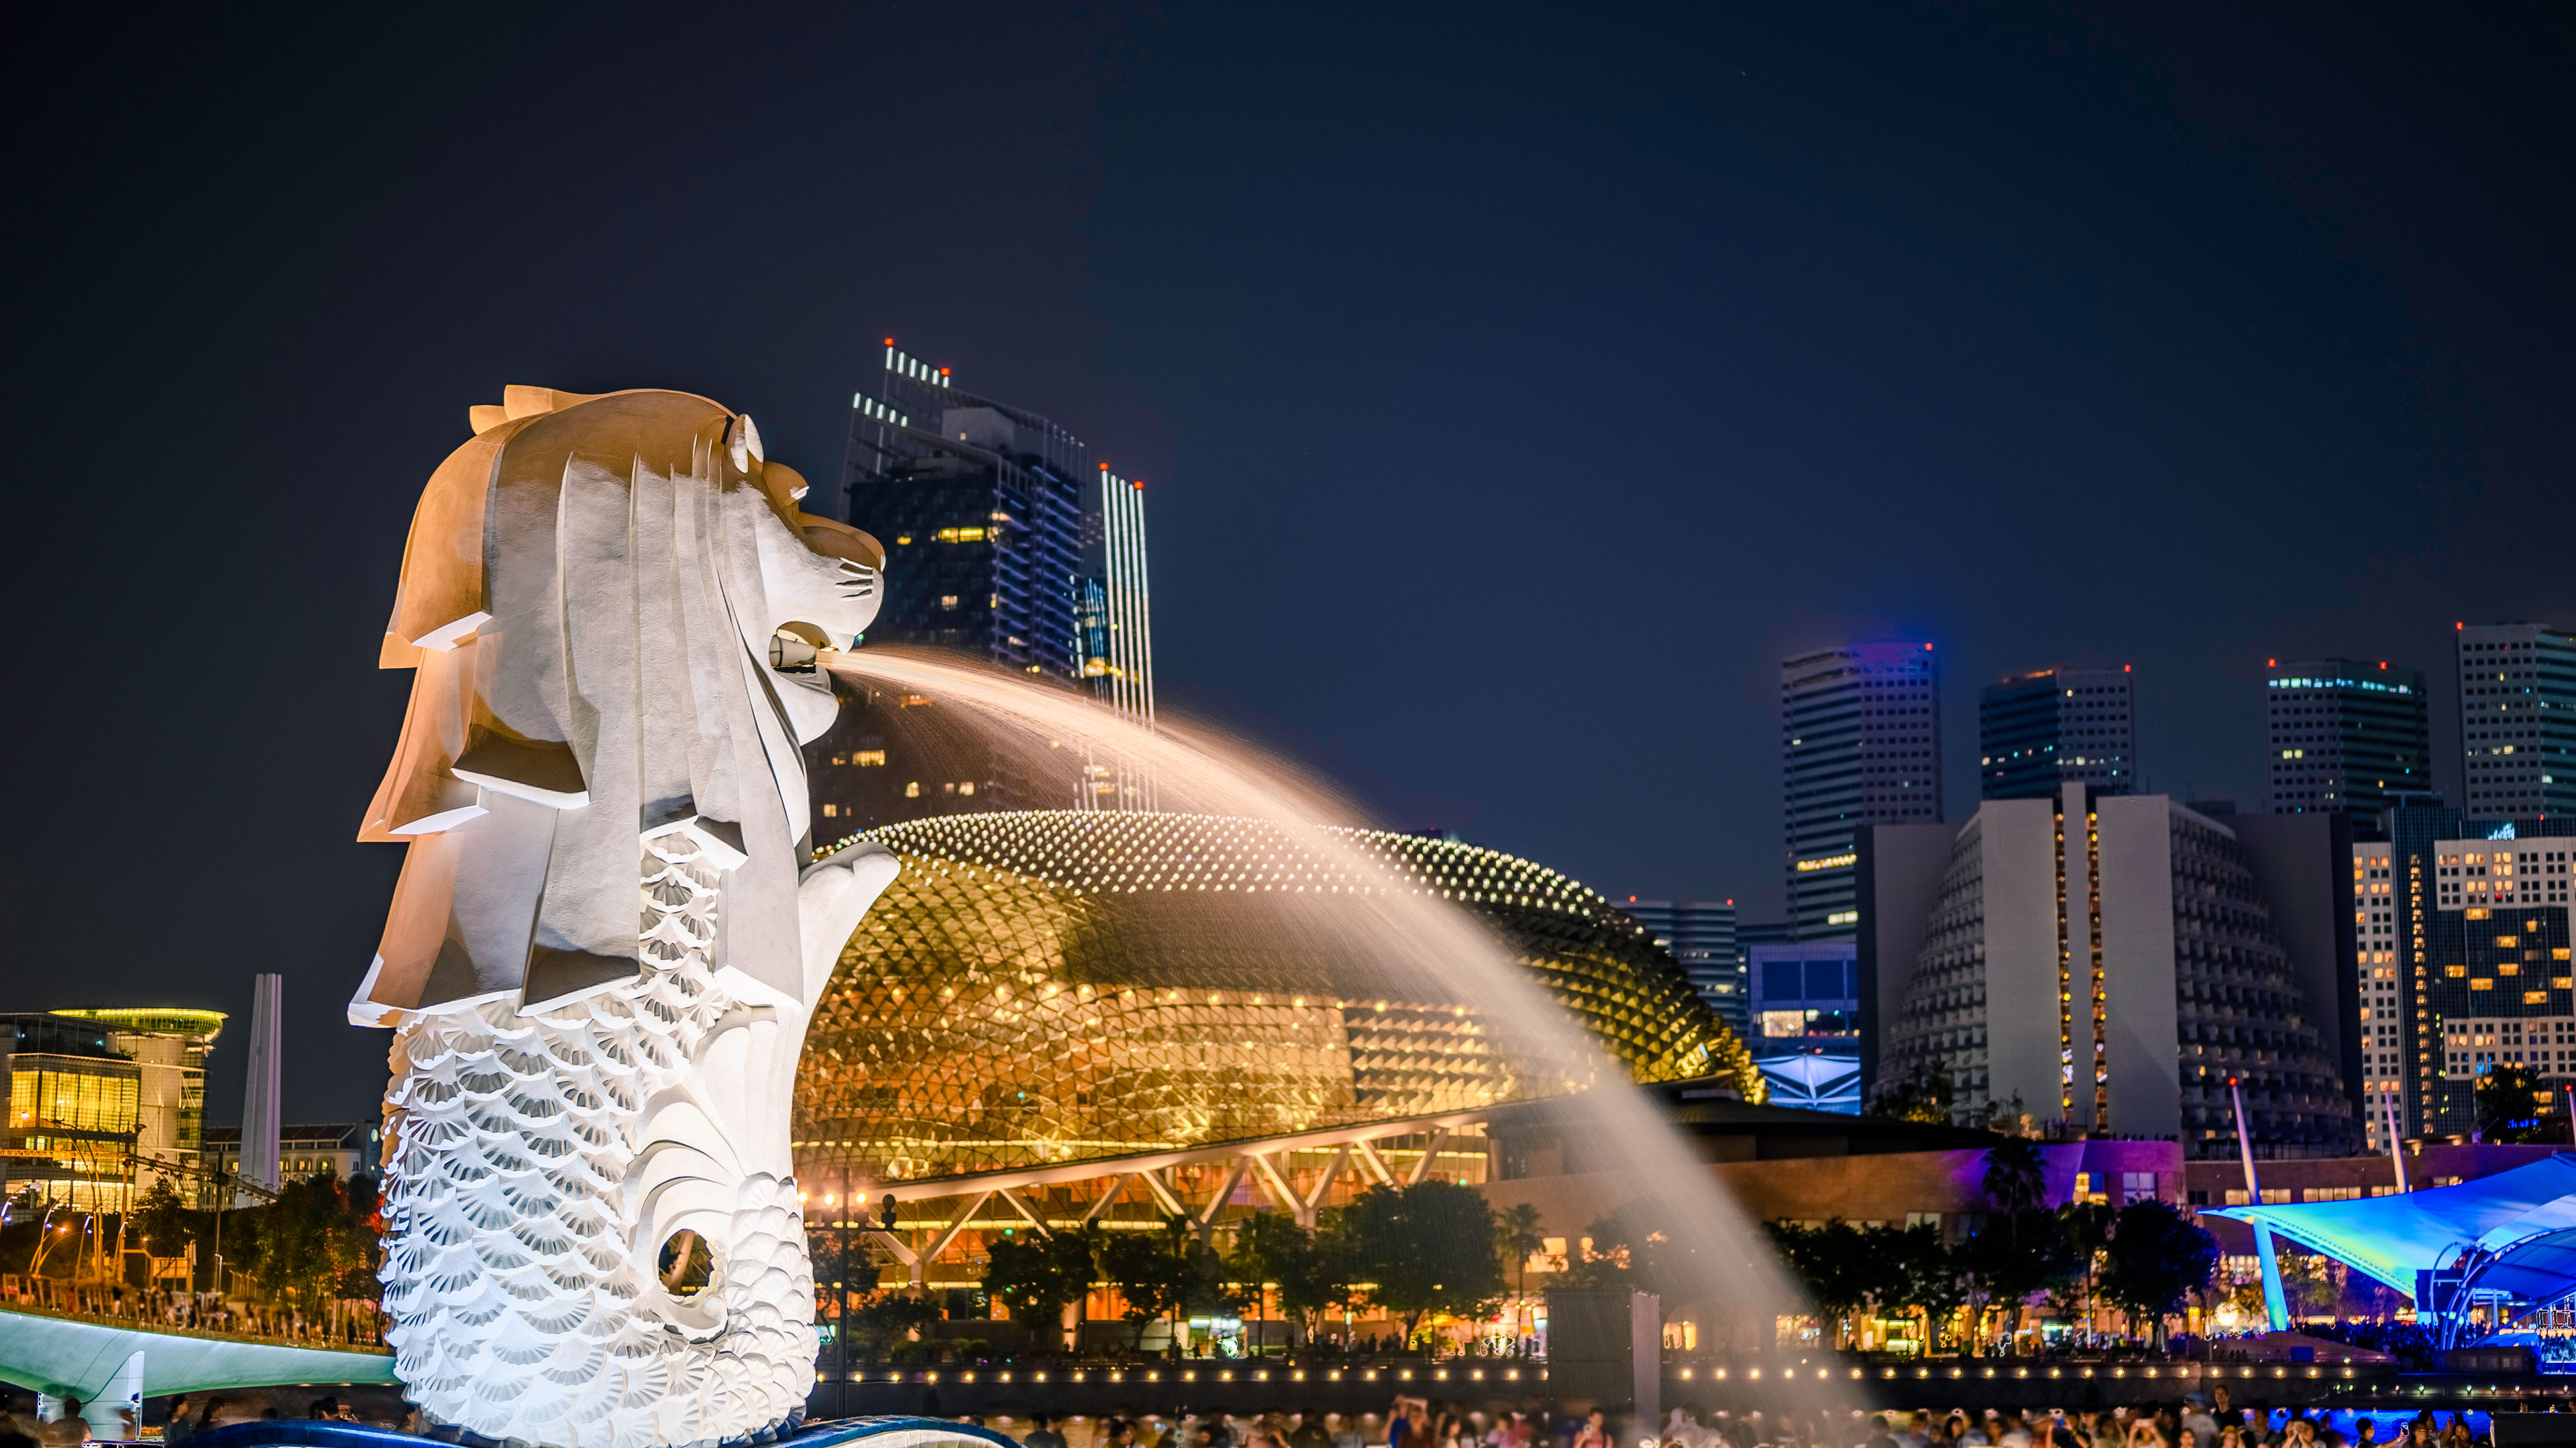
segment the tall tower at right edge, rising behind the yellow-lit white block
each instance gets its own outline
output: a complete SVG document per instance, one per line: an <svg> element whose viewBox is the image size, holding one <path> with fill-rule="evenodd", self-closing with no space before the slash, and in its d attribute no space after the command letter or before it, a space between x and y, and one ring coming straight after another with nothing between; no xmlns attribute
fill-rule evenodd
<svg viewBox="0 0 2576 1448"><path fill-rule="evenodd" d="M2460 750L2473 814L2576 814L2576 634L2463 624Z"/></svg>

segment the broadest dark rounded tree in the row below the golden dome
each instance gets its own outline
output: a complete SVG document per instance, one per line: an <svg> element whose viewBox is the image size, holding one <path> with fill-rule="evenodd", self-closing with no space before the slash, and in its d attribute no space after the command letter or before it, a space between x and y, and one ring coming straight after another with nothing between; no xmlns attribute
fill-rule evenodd
<svg viewBox="0 0 2576 1448"><path fill-rule="evenodd" d="M1502 1224L1471 1185L1376 1185L1334 1216L1334 1237L1373 1306L1404 1319L1404 1340L1430 1314L1502 1309Z"/></svg>

